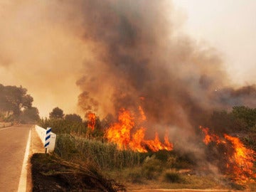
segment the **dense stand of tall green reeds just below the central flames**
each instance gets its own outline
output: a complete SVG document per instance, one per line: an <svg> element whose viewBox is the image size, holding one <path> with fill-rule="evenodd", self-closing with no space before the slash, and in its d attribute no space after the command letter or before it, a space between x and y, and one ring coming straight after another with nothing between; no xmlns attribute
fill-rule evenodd
<svg viewBox="0 0 256 192"><path fill-rule="evenodd" d="M63 159L79 163L94 161L101 169L122 169L139 166L141 155L129 150L118 150L115 144L95 139L60 134L57 137L55 153Z"/></svg>

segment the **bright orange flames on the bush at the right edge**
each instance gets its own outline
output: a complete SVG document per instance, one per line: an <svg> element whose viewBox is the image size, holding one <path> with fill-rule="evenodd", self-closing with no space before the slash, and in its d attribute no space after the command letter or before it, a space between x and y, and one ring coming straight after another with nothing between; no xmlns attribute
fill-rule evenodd
<svg viewBox="0 0 256 192"><path fill-rule="evenodd" d="M228 134L223 134L223 137L219 137L216 134L211 134L209 128L199 127L205 134L203 142L210 144L223 144L226 149L233 149L232 153L227 154L226 174L233 178L236 182L245 182L250 178L256 178L256 174L253 171L253 162L256 161L256 153L252 149L247 149L244 144L237 137L231 137ZM227 150L228 151L228 150Z"/></svg>

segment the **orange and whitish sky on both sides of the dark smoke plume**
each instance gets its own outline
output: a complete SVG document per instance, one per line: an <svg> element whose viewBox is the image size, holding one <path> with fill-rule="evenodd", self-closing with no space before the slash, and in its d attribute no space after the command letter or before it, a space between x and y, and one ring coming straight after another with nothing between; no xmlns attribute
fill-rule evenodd
<svg viewBox="0 0 256 192"><path fill-rule="evenodd" d="M0 2L0 83L26 87L41 117L48 117L53 107L65 114L80 112L76 82L85 60L93 60L85 43L70 35L76 31L63 30L45 14L51 4ZM170 16L177 17L176 33L215 48L235 85L256 83L256 1L173 0L173 6L176 11L170 9ZM52 11L60 19L61 9Z"/></svg>

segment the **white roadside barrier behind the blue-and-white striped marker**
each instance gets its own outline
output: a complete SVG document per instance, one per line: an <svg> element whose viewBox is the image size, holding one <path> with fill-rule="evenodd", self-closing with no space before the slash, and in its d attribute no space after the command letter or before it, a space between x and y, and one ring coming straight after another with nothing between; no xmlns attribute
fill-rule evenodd
<svg viewBox="0 0 256 192"><path fill-rule="evenodd" d="M45 141L46 141L46 129L44 129L43 127L39 127L38 125L35 125L35 129L36 132L39 136L39 138L41 139L41 142L43 144L43 146L45 145ZM56 134L53 132L50 132L50 144L48 144L48 152L53 152L54 148L55 148L55 142L56 142Z"/></svg>

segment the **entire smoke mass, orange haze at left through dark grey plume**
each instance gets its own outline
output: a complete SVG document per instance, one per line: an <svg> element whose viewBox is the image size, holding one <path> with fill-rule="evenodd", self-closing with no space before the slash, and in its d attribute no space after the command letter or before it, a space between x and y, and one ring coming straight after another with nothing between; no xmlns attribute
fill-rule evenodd
<svg viewBox="0 0 256 192"><path fill-rule="evenodd" d="M102 118L140 105L149 135L168 127L187 143L215 108L256 107L255 85L233 87L220 53L179 33L170 1L6 1L1 11L0 73L48 108L79 94L84 114Z"/></svg>

